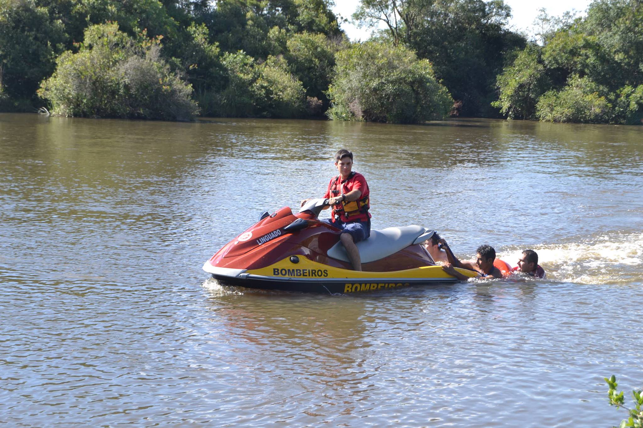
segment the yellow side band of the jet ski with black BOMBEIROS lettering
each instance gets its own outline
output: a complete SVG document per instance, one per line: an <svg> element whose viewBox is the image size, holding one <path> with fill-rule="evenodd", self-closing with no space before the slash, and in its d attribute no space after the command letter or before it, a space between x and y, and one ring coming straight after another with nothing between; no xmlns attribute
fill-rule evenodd
<svg viewBox="0 0 643 428"><path fill-rule="evenodd" d="M266 266L260 269L249 269L246 271L248 275L258 275L261 277L271 277L279 279L305 279L305 280L380 280L380 279L394 279L394 280L426 280L428 278L448 278L453 279L451 275L442 270L441 266L421 266L420 268L388 271L388 272L373 272L373 271L354 271L349 269L335 268L327 264L321 264L307 259L303 256L298 256L299 262L293 263L290 257ZM474 271L455 268L462 275L473 278L478 276ZM405 284L406 285L406 284Z"/></svg>

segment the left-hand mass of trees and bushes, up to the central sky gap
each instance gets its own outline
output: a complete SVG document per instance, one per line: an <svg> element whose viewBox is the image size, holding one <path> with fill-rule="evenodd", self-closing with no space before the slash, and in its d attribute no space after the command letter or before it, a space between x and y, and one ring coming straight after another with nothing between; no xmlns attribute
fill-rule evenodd
<svg viewBox="0 0 643 428"><path fill-rule="evenodd" d="M0 0L0 109L16 110L19 99L27 110L42 106L41 85L39 93L61 114L172 117L148 107L163 95L193 110L181 104L190 90L180 74L208 114L307 116L307 107L327 105L343 37L331 6L331 0ZM118 34L103 34L111 22L119 23ZM96 28L114 51L87 39ZM154 46L143 46L141 34Z"/></svg>

